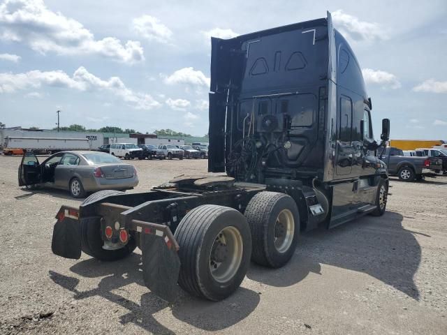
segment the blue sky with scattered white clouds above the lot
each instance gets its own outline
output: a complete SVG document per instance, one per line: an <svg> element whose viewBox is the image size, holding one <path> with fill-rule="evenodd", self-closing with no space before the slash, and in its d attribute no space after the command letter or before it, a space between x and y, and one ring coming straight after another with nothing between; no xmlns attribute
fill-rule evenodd
<svg viewBox="0 0 447 335"><path fill-rule="evenodd" d="M332 12L375 135L447 140L447 1L0 0L0 121L207 133L210 36Z"/></svg>

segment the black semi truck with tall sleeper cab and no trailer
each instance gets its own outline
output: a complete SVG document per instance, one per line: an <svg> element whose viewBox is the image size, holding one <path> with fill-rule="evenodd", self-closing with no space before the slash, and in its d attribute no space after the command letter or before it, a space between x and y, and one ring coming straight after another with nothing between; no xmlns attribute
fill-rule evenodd
<svg viewBox="0 0 447 335"><path fill-rule="evenodd" d="M100 260L142 251L147 288L178 286L220 300L250 260L281 267L300 232L386 209L388 174L375 152L372 102L349 44L328 17L212 38L208 170L144 193L101 191L63 206L54 254ZM177 285L177 283L179 285Z"/></svg>

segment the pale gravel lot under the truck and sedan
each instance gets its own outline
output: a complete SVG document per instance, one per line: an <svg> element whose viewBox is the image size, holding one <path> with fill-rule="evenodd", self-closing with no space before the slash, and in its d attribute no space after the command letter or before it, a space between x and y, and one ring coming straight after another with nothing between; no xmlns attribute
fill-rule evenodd
<svg viewBox="0 0 447 335"><path fill-rule="evenodd" d="M282 269L251 265L217 303L173 306L142 283L140 257L104 263L51 253L54 215L80 202L17 187L0 156L1 334L447 334L447 178L391 181L387 213L301 235ZM206 161L134 161L140 185L205 172Z"/></svg>

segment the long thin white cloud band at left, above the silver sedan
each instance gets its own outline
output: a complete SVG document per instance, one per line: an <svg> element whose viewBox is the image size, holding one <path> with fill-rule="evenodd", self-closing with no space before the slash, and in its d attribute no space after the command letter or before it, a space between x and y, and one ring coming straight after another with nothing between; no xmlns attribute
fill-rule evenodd
<svg viewBox="0 0 447 335"><path fill-rule="evenodd" d="M119 77L102 80L89 73L83 66L70 77L64 71L32 70L27 73L0 73L0 94L24 89L36 89L43 85L75 89L78 91L109 91L137 110L150 110L160 103L149 94L134 92L127 88Z"/></svg>

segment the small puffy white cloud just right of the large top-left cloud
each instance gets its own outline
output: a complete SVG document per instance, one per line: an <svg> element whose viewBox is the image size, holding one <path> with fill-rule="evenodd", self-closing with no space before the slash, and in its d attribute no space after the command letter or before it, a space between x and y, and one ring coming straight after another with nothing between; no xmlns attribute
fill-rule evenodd
<svg viewBox="0 0 447 335"><path fill-rule="evenodd" d="M173 37L173 32L168 27L150 15L142 15L133 19L132 28L140 36L159 43L168 43Z"/></svg>

